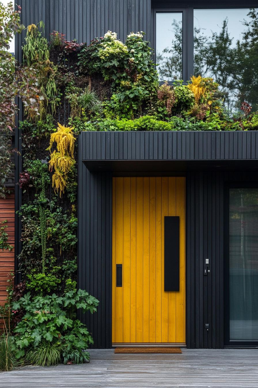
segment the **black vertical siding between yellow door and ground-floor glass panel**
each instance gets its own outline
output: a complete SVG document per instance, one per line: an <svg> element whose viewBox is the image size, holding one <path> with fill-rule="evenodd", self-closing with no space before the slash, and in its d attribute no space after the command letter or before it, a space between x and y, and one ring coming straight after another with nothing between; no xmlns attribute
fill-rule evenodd
<svg viewBox="0 0 258 388"><path fill-rule="evenodd" d="M224 190L256 182L257 172L186 174L186 344L224 347ZM203 276L205 259L210 273ZM204 328L209 324L209 331Z"/></svg>

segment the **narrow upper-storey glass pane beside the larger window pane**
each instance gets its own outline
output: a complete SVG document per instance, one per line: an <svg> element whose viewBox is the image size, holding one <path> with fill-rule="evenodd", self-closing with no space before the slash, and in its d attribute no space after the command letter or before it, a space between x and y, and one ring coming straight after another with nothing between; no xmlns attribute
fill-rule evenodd
<svg viewBox="0 0 258 388"><path fill-rule="evenodd" d="M156 13L156 63L160 81L182 79L182 12Z"/></svg>

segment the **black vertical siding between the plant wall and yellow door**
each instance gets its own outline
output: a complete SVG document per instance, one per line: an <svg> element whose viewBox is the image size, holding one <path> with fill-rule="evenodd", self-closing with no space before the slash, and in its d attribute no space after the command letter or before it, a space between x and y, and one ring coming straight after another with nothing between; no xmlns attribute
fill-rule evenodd
<svg viewBox="0 0 258 388"><path fill-rule="evenodd" d="M78 287L99 301L97 313L80 319L94 338L95 348L111 347L112 176L90 173L82 162L79 142Z"/></svg>

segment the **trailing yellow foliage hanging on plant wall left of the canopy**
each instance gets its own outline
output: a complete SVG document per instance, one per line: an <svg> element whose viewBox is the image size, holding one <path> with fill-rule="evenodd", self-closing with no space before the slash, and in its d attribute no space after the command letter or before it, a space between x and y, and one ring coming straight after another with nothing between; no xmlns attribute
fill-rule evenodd
<svg viewBox="0 0 258 388"><path fill-rule="evenodd" d="M60 197L67 187L67 174L75 164L73 159L74 142L73 128L58 123L57 131L51 133L50 146L47 150L50 151L49 170L55 170L52 176L52 187L55 192L59 192ZM54 143L56 143L57 151L51 152Z"/></svg>

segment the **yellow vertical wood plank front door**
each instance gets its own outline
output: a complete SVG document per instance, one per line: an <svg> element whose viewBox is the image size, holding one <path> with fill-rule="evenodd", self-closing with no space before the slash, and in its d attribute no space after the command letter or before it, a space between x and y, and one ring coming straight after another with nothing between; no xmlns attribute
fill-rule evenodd
<svg viewBox="0 0 258 388"><path fill-rule="evenodd" d="M179 291L164 291L165 216L179 217ZM112 249L113 344L184 345L185 177L114 177Z"/></svg>

